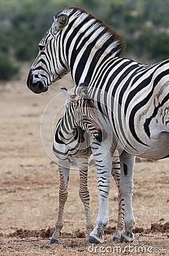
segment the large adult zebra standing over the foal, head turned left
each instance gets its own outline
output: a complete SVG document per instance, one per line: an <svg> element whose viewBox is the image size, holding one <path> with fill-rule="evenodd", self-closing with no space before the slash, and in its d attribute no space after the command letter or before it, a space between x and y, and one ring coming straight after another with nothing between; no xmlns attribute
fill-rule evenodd
<svg viewBox="0 0 169 256"><path fill-rule="evenodd" d="M121 58L124 48L122 38L87 11L77 7L61 10L39 44L27 85L34 93L45 92L68 72L76 85L88 83L90 97L110 122L114 135L112 155L119 143L125 202L121 241L133 241L135 156L162 159L169 155L169 60L142 65ZM108 224L108 192L102 190L105 195L100 196L100 214L89 242L103 242L102 233Z"/></svg>

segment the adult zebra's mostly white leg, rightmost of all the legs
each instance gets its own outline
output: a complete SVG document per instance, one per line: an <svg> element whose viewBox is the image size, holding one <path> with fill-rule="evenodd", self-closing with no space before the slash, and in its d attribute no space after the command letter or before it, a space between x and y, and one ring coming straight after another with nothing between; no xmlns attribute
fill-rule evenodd
<svg viewBox="0 0 169 256"><path fill-rule="evenodd" d="M120 242L132 242L134 240L132 230L135 224L135 219L133 215L132 195L135 159L135 156L132 156L125 151L120 155L120 190L124 197L125 204L124 228L121 232Z"/></svg>

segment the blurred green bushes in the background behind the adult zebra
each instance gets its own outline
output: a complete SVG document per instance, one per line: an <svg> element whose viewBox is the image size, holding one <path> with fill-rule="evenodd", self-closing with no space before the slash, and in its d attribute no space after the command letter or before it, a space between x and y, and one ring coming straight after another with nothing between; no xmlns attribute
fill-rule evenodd
<svg viewBox="0 0 169 256"><path fill-rule="evenodd" d="M127 45L122 56L145 63L168 58L168 0L1 0L0 79L18 71L14 60L35 59L53 15L68 6L82 7L117 30Z"/></svg>

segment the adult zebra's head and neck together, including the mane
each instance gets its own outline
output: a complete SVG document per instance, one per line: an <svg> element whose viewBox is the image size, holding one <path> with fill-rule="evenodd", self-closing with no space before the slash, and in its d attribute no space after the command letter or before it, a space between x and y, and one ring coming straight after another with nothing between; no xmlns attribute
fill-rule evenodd
<svg viewBox="0 0 169 256"><path fill-rule="evenodd" d="M89 82L102 56L118 57L125 48L121 36L102 20L78 7L54 16L54 23L39 43L27 86L34 93L71 72L75 84Z"/></svg>

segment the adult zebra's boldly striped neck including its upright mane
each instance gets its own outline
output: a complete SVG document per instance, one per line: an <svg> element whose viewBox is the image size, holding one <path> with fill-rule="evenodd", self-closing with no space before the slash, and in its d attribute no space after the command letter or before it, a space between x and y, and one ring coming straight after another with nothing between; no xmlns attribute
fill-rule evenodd
<svg viewBox="0 0 169 256"><path fill-rule="evenodd" d="M121 36L102 20L78 7L60 11L68 23L62 31L62 46L75 84L90 81L96 65L108 57L120 56L125 48Z"/></svg>

